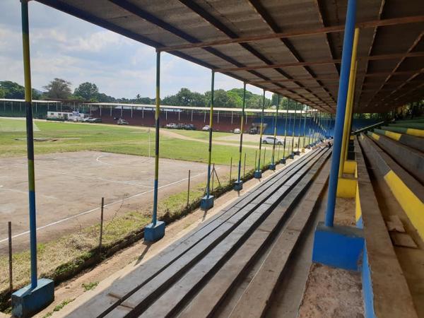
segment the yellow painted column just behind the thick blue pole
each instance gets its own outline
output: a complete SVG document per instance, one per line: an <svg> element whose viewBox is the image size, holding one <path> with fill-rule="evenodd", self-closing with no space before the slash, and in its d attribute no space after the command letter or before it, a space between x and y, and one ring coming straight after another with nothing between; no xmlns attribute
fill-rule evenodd
<svg viewBox="0 0 424 318"><path fill-rule="evenodd" d="M343 125L343 138L341 143L341 158L340 158L340 165L338 166L338 177L341 177L343 175L343 167L345 162L345 156L344 153L346 153L346 136L348 136L348 122L349 117L351 116L351 107L352 103L351 100L353 100L353 90L355 86L355 64L356 64L356 53L358 51L358 38L359 38L359 28L355 28L355 35L353 36L353 50L352 50L352 59L351 59L351 73L349 73L349 86L348 86L348 96L346 99L346 112L345 112L345 118L344 118L344 125Z"/></svg>

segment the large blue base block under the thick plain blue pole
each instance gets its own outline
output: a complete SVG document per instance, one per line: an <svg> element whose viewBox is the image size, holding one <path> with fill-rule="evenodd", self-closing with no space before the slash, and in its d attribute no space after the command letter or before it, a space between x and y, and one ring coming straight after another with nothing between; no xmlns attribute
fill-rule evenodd
<svg viewBox="0 0 424 318"><path fill-rule="evenodd" d="M348 271L360 271L363 259L363 230L350 226L325 226L319 222L314 233L312 261Z"/></svg>

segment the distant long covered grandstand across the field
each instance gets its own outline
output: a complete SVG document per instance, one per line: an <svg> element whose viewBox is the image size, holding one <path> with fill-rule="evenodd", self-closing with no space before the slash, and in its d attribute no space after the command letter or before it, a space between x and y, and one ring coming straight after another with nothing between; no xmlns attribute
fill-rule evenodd
<svg viewBox="0 0 424 318"><path fill-rule="evenodd" d="M3 117L24 117L25 107L23 100L6 100L0 99L0 116ZM189 106L160 106L160 124L194 124L196 129L201 129L209 123L209 108L208 107L189 107ZM143 104L122 104L109 102L63 102L54 100L35 100L34 101L34 117L45 119L47 112L51 111L79 111L84 114L89 114L90 117L98 117L106 124L116 124L117 119L126 119L129 124L135 126L155 126L155 110L154 105ZM313 131L315 110L307 112L306 124L305 112L294 110L288 111L287 127L285 127L285 117L287 110L279 110L276 118L275 109L264 110L264 134L273 134L274 122L277 120L277 134L284 135L285 129L287 134L295 136L310 134ZM244 131L247 132L251 127L259 126L261 122L261 110L248 108L245 110ZM240 108L224 108L215 107L213 112L213 130L214 131L233 131L240 128ZM293 119L295 118L295 122ZM377 119L354 119L353 130L360 129L378 122ZM334 126L334 120L329 119L330 127ZM332 135L332 129L329 129L329 134Z"/></svg>

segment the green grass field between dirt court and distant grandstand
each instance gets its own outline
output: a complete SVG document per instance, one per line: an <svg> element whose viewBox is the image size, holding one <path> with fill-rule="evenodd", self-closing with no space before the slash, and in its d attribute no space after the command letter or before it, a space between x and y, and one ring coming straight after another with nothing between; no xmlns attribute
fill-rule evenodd
<svg viewBox="0 0 424 318"><path fill-rule="evenodd" d="M25 121L18 119L0 119L0 157L18 157L26 155ZM74 124L64 122L35 122L38 131L34 131L35 154L46 154L67 151L105 151L130 155L154 154L154 130L142 127L112 126L103 124ZM24 126L22 126L24 125ZM177 160L189 160L206 163L208 160L208 144L200 142L207 140L206 131L176 131L177 134L189 136L199 141L160 137L160 157ZM149 138L150 135L150 138ZM214 133L214 140L228 133ZM149 143L150 140L150 143ZM239 149L235 146L213 145L212 161L217 165L229 165L237 162ZM266 149L266 150L265 150ZM271 162L272 146L262 148L262 156L266 155L265 163ZM248 167L254 165L255 149L245 148ZM280 157L283 156L283 149ZM277 153L276 153L277 157Z"/></svg>

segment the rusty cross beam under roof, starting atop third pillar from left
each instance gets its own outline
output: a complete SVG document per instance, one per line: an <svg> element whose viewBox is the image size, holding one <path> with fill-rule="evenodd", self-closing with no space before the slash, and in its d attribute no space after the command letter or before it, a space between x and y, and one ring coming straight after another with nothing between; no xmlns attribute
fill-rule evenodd
<svg viewBox="0 0 424 318"><path fill-rule="evenodd" d="M395 53L395 54L381 54L374 55L372 57L358 57L358 60L382 60L382 59L404 59L406 57L424 57L424 52L410 52L410 53ZM228 69L215 69L215 71L220 73L234 72L234 71L250 71L254 69L275 69L283 67L303 67L303 66L312 66L312 65L326 65L340 63L341 59L329 59L326 61L307 61L307 62L292 62L292 63L279 63L271 65L252 65L245 67L230 67Z"/></svg>

